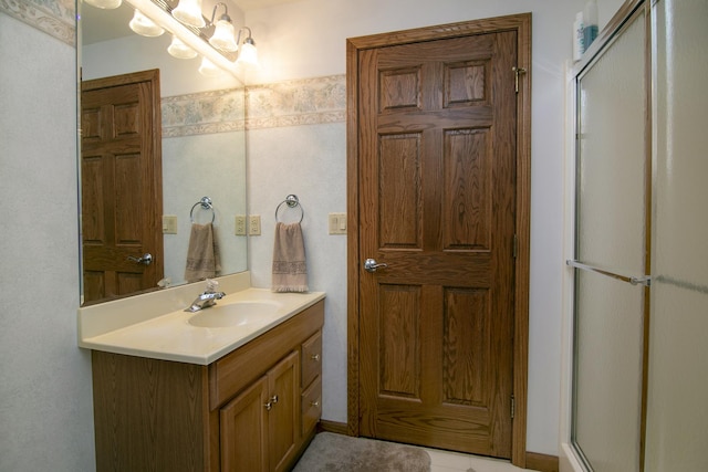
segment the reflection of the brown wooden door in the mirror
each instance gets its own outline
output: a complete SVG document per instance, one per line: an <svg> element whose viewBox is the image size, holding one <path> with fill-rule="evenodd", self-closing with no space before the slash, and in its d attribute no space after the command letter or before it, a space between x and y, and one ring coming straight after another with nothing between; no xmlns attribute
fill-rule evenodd
<svg viewBox="0 0 708 472"><path fill-rule="evenodd" d="M159 70L82 82L84 304L164 276L160 126Z"/></svg>

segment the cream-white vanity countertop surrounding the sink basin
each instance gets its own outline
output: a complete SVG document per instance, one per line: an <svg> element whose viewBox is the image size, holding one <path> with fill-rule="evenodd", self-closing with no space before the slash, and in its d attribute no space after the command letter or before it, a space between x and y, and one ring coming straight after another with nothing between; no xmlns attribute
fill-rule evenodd
<svg viewBox="0 0 708 472"><path fill-rule="evenodd" d="M197 294L195 292L195 296ZM217 302L217 305L252 301L278 303L277 313L273 316L264 317L262 323L256 321L243 326L228 327L192 326L189 318L212 310L206 308L197 313L179 310L164 314L156 312L154 316L142 314L142 319L137 321L133 315L129 324L116 326L114 323L108 329L97 329L96 325L100 325L100 322L95 319L100 319L102 315L95 314L95 312L100 312L93 307L91 311L80 308L79 346L115 354L209 365L304 308L314 305L324 296L323 292L273 293L267 289L252 287L228 293ZM82 310L85 313L82 313ZM112 310L115 312L116 307L114 306ZM94 313L91 313L92 311ZM91 318L92 314L94 315L93 319ZM113 313L112 316L116 316L116 314ZM126 316L126 318L131 318L131 316Z"/></svg>

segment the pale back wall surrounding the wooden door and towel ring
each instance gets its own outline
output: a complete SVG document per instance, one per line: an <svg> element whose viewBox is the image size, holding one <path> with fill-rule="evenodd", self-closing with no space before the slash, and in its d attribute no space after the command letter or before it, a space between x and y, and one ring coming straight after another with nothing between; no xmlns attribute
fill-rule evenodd
<svg viewBox="0 0 708 472"><path fill-rule="evenodd" d="M600 0L600 24L621 0ZM324 328L323 417L346 421L346 240L329 235L329 212L346 211L344 102L322 120L298 118L324 102L323 82L343 81L345 40L433 24L519 12L533 13L531 151L531 295L528 450L558 454L560 334L562 311L564 76L571 30L583 0L302 0L248 11L261 69L247 84L273 84L269 105L275 123L259 120L248 133L251 213L263 219L263 235L250 245L253 283L270 284L272 212L296 193L305 209L303 227L310 285L327 292ZM326 21L323 21L326 20ZM296 27L294 27L296 25ZM339 77L339 78L333 78ZM275 85L277 84L277 85ZM249 85L252 91L253 85ZM317 99L313 99L319 97ZM279 102L280 101L280 102ZM249 93L249 116L262 101ZM289 118L289 119L288 119ZM267 182L267 185L264 185Z"/></svg>

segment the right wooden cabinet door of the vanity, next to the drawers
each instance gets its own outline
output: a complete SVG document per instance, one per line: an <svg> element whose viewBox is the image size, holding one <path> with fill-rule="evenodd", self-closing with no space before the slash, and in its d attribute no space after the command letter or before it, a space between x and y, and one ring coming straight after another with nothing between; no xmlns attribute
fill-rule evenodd
<svg viewBox="0 0 708 472"><path fill-rule="evenodd" d="M300 354L292 352L268 373L270 470L290 465L300 440ZM244 469L246 470L246 469Z"/></svg>

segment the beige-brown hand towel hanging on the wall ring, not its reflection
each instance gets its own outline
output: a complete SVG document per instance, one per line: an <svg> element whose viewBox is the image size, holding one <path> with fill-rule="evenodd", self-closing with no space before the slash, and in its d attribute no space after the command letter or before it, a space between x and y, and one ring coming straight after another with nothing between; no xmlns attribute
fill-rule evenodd
<svg viewBox="0 0 708 472"><path fill-rule="evenodd" d="M308 292L305 243L300 223L277 223L273 244L273 292Z"/></svg>

